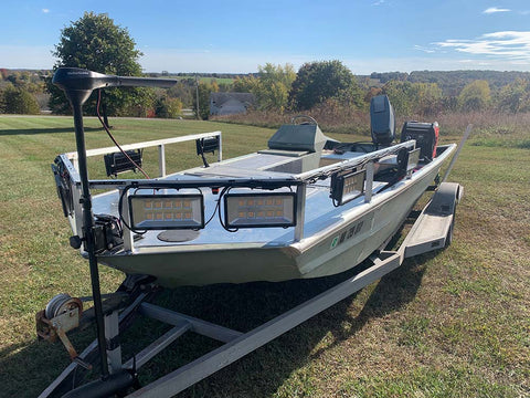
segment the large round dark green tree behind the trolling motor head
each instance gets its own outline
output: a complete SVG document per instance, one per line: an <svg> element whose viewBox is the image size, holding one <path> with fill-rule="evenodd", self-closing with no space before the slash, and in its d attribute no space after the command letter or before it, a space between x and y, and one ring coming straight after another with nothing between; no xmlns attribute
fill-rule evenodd
<svg viewBox="0 0 530 398"><path fill-rule="evenodd" d="M54 69L82 67L91 71L125 76L140 76L138 59L142 55L127 29L116 25L106 13L85 12L61 31L61 39L53 55L59 59ZM68 113L62 91L49 83L50 106L55 113ZM95 113L95 95L85 106L86 113ZM146 88L106 90L102 109L104 115L123 115L131 106L146 106L150 95Z"/></svg>

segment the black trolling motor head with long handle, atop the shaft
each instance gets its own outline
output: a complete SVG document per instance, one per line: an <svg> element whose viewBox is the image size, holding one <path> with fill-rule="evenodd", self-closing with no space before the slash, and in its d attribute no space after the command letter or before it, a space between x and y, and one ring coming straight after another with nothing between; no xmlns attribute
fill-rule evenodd
<svg viewBox="0 0 530 398"><path fill-rule="evenodd" d="M64 91L72 105L83 105L96 88L117 86L170 87L176 80L134 76L115 76L80 67L60 67L53 74L52 83Z"/></svg>

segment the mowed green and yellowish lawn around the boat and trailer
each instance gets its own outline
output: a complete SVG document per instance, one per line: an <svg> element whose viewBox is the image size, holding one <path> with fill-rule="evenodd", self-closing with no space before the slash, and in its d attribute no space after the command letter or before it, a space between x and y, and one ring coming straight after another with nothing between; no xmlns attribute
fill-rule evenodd
<svg viewBox="0 0 530 398"><path fill-rule="evenodd" d="M225 157L263 148L274 133L191 121L112 124L124 144L219 129ZM110 146L97 121L86 119L86 127L88 148ZM442 126L443 142L459 139L447 130L455 134ZM511 145L528 137L485 140L483 133L473 133L449 178L465 186L449 249L407 260L179 397L530 396L530 150ZM168 148L169 168L199 165L193 145ZM50 169L55 155L74 149L68 117L0 116L0 397L34 397L61 373L67 354L59 343L36 341L34 313L57 293L89 294L88 266L67 243ZM156 174L156 151L146 150L145 161ZM103 169L103 159L91 161L91 177ZM157 301L247 331L340 277L184 287ZM104 292L121 279L102 268ZM162 332L155 322L137 325L126 349ZM81 352L92 338L84 333L73 342ZM215 346L186 336L141 369L141 381Z"/></svg>

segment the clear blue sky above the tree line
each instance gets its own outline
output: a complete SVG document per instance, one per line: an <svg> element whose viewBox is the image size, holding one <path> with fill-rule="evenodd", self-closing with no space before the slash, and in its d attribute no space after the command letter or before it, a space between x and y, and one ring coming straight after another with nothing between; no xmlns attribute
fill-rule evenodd
<svg viewBox="0 0 530 398"><path fill-rule="evenodd" d="M321 60L354 74L530 71L528 0L3 0L0 10L8 69L51 69L61 29L94 11L128 29L146 72L247 73Z"/></svg>

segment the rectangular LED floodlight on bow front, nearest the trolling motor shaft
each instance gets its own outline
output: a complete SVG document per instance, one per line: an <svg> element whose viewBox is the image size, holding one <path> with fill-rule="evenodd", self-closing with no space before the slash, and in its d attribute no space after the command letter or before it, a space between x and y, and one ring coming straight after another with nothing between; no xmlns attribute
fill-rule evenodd
<svg viewBox="0 0 530 398"><path fill-rule="evenodd" d="M202 195L132 195L129 212L135 230L204 228Z"/></svg>

